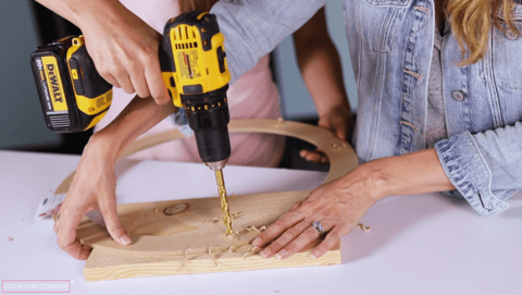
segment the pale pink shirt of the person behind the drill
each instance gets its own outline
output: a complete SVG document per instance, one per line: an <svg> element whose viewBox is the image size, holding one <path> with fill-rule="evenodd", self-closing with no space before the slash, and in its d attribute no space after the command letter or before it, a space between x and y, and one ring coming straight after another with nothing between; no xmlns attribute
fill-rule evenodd
<svg viewBox="0 0 522 295"><path fill-rule="evenodd" d="M179 14L177 0L121 0L128 10L156 30L163 27L171 17ZM225 48L226 50L226 48ZM95 131L107 126L127 106L135 95L114 88L111 108ZM245 73L227 91L231 119L277 119L281 116L277 87L272 82L269 57ZM165 119L142 136L173 130L175 126ZM229 164L274 167L281 160L284 138L266 134L231 134L232 155ZM164 143L135 153L132 159L156 159L169 161L201 162L194 137Z"/></svg>

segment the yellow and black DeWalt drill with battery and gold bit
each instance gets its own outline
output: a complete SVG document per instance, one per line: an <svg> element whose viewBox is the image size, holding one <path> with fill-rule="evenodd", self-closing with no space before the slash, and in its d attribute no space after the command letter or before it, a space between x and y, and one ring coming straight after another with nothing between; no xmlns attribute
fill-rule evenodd
<svg viewBox="0 0 522 295"><path fill-rule="evenodd" d="M231 74L215 15L190 12L171 19L159 51L164 83L187 113L201 160L215 173L226 233L232 220L222 169L231 157L226 90ZM96 71L84 38L66 37L32 54L38 94L50 130L80 132L96 125L112 101L112 85Z"/></svg>

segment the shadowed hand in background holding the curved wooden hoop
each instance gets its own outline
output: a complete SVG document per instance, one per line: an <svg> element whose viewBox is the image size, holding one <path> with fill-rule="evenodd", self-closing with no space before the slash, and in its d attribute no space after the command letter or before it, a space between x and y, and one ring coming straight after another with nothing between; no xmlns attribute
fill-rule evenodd
<svg viewBox="0 0 522 295"><path fill-rule="evenodd" d="M346 103L331 108L327 112L320 115L318 126L331 131L341 140L349 140L355 126L350 107ZM319 149L315 151L303 149L299 155L306 160L318 164L326 164L330 162L326 153Z"/></svg>

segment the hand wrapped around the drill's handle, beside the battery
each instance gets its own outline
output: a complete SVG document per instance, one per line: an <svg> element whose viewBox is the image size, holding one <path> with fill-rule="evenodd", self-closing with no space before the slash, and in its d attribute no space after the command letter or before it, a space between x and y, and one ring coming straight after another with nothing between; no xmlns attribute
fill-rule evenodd
<svg viewBox="0 0 522 295"><path fill-rule="evenodd" d="M89 56L100 75L114 87L157 103L170 101L158 50L162 36L119 1L87 11L78 19Z"/></svg>

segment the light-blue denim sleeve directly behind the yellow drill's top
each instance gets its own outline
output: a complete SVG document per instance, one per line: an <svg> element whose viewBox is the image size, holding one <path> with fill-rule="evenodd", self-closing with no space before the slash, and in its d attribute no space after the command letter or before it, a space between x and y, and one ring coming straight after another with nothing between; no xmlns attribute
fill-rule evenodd
<svg viewBox="0 0 522 295"><path fill-rule="evenodd" d="M301 27L326 0L221 0L211 13L225 36L231 84Z"/></svg>

